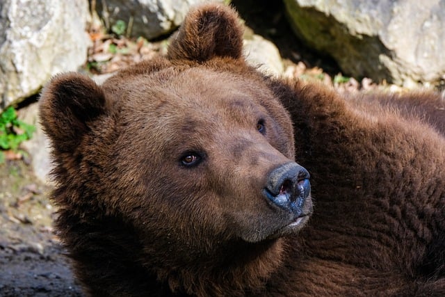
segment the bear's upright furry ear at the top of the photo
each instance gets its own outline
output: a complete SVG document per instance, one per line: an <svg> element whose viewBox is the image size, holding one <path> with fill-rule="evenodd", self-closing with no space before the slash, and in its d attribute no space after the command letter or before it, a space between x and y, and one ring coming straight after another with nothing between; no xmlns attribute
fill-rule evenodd
<svg viewBox="0 0 445 297"><path fill-rule="evenodd" d="M192 9L170 42L170 60L209 61L216 56L239 59L243 26L229 6L207 3Z"/></svg>

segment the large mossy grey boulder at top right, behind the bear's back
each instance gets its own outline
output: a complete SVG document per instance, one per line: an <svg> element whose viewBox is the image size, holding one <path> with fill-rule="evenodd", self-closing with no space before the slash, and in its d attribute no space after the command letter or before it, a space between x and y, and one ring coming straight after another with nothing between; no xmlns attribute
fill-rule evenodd
<svg viewBox="0 0 445 297"><path fill-rule="evenodd" d="M445 0L285 0L294 31L348 75L392 83L445 79Z"/></svg>

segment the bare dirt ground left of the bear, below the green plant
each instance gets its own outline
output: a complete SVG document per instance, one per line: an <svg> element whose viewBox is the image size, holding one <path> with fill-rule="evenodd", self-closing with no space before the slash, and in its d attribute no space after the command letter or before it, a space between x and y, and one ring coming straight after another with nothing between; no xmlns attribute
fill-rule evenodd
<svg viewBox="0 0 445 297"><path fill-rule="evenodd" d="M82 296L51 227L49 191L26 161L0 165L0 296Z"/></svg>

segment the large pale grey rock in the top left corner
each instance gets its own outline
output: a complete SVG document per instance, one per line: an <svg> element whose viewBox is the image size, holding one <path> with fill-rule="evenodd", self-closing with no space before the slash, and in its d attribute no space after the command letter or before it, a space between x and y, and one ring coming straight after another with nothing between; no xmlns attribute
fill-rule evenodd
<svg viewBox="0 0 445 297"><path fill-rule="evenodd" d="M87 0L0 2L0 112L86 62Z"/></svg>

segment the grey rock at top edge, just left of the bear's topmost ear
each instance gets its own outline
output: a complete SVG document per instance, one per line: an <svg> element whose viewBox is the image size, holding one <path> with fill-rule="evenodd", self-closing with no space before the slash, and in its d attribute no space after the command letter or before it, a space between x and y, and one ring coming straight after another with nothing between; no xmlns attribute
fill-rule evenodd
<svg viewBox="0 0 445 297"><path fill-rule="evenodd" d="M206 1L208 0L90 0L90 3L96 3L96 11L108 28L121 20L129 27L129 35L153 39L176 29L191 6ZM103 3L106 5L103 6Z"/></svg>

